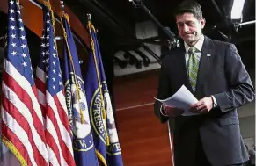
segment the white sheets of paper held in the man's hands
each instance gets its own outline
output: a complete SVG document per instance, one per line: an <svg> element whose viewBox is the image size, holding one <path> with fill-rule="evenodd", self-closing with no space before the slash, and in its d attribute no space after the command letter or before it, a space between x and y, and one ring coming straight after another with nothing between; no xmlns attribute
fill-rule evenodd
<svg viewBox="0 0 256 166"><path fill-rule="evenodd" d="M184 113L182 114L183 116L191 116L191 115L199 114L199 113L189 112L190 105L195 104L196 102L198 102L198 100L196 99L196 97L194 97L194 95L189 90L187 90L185 85L182 85L179 88L179 90L174 95L172 95L172 97L168 97L164 100L158 99L158 98L155 98L155 99L157 99L158 101L160 101L165 105L177 107L184 110Z"/></svg>

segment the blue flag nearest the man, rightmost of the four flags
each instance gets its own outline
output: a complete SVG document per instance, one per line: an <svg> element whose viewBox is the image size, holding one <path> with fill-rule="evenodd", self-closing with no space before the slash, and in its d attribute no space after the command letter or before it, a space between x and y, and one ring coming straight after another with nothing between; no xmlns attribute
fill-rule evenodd
<svg viewBox="0 0 256 166"><path fill-rule="evenodd" d="M106 166L122 166L121 148L113 117L113 107L107 90L95 29L88 24L91 35L91 54L85 76L93 141L99 160ZM99 88L100 87L100 88Z"/></svg>

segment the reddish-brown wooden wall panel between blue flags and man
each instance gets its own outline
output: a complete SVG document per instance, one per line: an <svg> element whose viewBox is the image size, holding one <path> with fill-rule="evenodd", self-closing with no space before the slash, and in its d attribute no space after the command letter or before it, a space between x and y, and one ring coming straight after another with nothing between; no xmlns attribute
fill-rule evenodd
<svg viewBox="0 0 256 166"><path fill-rule="evenodd" d="M113 80L117 127L125 166L172 165L168 128L158 121L152 104L157 93L157 73L155 70Z"/></svg>

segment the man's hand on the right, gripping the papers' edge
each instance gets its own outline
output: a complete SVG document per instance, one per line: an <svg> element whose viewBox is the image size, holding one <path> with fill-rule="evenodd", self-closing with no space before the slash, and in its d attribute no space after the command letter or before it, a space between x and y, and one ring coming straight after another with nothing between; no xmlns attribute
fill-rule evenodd
<svg viewBox="0 0 256 166"><path fill-rule="evenodd" d="M214 102L212 97L201 98L196 104L190 105L190 112L203 113L209 112L213 108Z"/></svg>

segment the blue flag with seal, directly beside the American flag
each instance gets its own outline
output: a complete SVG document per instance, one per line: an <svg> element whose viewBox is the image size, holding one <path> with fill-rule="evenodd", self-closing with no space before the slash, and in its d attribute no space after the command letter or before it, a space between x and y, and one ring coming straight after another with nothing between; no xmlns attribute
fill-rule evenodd
<svg viewBox="0 0 256 166"><path fill-rule="evenodd" d="M73 133L74 158L77 166L98 166L77 49L69 27L69 18L65 14L62 16L62 25L67 34L64 34L63 80L69 125Z"/></svg>

